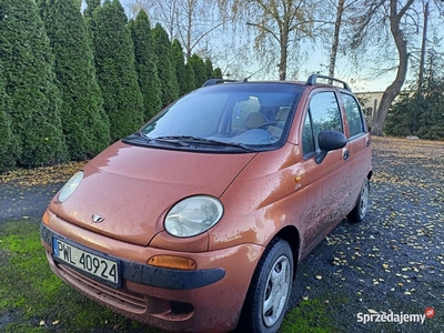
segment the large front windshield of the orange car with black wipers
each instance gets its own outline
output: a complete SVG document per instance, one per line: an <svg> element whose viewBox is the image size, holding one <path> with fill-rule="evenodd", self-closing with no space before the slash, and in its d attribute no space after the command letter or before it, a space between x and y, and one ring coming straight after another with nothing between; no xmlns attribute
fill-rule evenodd
<svg viewBox="0 0 444 333"><path fill-rule="evenodd" d="M284 83L225 83L179 99L141 131L149 144L243 150L281 147L302 88Z"/></svg>

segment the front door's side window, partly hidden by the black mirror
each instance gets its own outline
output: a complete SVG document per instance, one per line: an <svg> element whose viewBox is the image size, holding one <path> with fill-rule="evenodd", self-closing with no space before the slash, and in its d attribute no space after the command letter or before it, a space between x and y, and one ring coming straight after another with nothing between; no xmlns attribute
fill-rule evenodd
<svg viewBox="0 0 444 333"><path fill-rule="evenodd" d="M317 135L322 131L343 133L341 110L333 91L320 92L310 100L302 130L302 151L304 157L319 150Z"/></svg>

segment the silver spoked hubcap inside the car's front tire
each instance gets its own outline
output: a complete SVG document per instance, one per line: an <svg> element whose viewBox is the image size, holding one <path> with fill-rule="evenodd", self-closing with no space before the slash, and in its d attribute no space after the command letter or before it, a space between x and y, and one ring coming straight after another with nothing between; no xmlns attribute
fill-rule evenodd
<svg viewBox="0 0 444 333"><path fill-rule="evenodd" d="M291 284L290 276L290 261L285 255L281 255L266 279L262 320L268 327L278 322L284 310Z"/></svg>

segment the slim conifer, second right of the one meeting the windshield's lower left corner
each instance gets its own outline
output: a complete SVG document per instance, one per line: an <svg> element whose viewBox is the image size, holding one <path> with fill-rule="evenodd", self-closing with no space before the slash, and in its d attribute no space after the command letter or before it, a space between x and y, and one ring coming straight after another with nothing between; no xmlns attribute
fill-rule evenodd
<svg viewBox="0 0 444 333"><path fill-rule="evenodd" d="M162 105L167 107L179 97L178 78L172 61L171 42L160 23L152 30L154 52L158 57L158 71L161 82Z"/></svg>

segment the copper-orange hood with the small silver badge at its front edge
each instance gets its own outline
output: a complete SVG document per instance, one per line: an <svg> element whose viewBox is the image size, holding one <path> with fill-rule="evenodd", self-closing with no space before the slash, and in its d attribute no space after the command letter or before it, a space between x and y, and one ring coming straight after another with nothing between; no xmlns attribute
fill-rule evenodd
<svg viewBox="0 0 444 333"><path fill-rule="evenodd" d="M99 234L148 245L164 230L163 219L172 205L195 194L221 196L254 155L194 153L118 142L85 164L82 182L64 203L56 204L56 213ZM93 215L103 221L94 222Z"/></svg>

